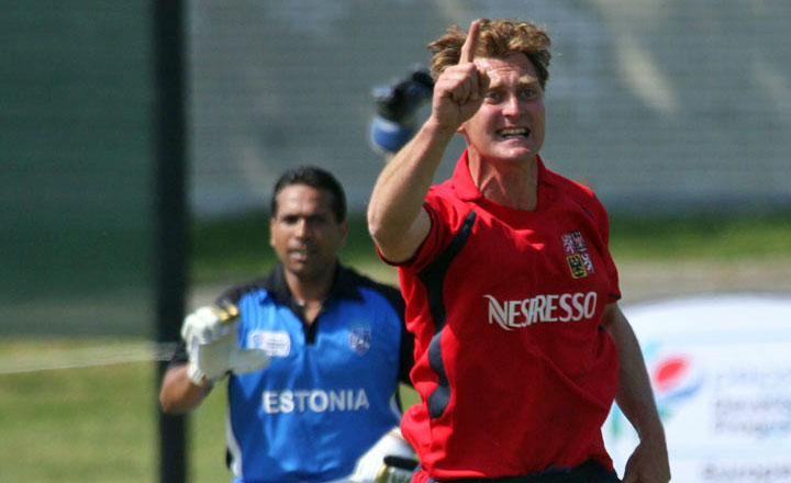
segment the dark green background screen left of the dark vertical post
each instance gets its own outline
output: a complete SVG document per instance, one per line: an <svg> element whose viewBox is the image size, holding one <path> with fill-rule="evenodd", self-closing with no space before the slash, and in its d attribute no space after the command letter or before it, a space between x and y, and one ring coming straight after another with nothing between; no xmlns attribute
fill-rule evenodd
<svg viewBox="0 0 791 483"><path fill-rule="evenodd" d="M0 329L152 329L148 2L3 2Z"/></svg>

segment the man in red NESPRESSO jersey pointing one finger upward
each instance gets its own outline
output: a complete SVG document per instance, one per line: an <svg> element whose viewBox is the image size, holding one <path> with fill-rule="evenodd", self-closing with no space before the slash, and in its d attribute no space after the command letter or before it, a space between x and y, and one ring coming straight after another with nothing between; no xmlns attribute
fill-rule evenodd
<svg viewBox="0 0 791 483"><path fill-rule="evenodd" d="M617 482L601 426L613 400L639 446L624 482L667 483L645 362L617 305L608 214L544 165L549 37L479 20L430 44L432 111L385 166L368 206L398 266L412 381L415 483ZM457 133L467 149L431 186Z"/></svg>

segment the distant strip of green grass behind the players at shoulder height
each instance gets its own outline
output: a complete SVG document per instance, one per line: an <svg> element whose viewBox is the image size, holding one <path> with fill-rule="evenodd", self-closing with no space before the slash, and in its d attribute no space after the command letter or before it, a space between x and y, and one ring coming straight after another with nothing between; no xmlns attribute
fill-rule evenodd
<svg viewBox="0 0 791 483"><path fill-rule="evenodd" d="M203 222L192 232L196 283L236 280L264 273L272 263L265 213ZM349 218L342 258L378 270L381 262L361 215ZM610 245L617 263L632 261L721 263L729 260L789 260L791 213L764 216L697 214L678 218L611 216Z"/></svg>

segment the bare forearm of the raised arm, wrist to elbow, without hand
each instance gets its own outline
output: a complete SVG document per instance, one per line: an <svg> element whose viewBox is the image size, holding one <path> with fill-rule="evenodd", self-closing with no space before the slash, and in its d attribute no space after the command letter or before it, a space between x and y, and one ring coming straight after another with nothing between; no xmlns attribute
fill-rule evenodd
<svg viewBox="0 0 791 483"><path fill-rule="evenodd" d="M379 176L368 204L368 229L386 258L409 258L427 234L423 202L454 133L427 121Z"/></svg>

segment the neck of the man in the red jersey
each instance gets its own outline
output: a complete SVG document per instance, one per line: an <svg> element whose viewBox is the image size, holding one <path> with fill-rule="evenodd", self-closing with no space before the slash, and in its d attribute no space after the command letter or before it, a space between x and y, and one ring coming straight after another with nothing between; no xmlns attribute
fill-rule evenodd
<svg viewBox="0 0 791 483"><path fill-rule="evenodd" d="M514 210L538 205L538 160L489 160L469 153L472 182L483 198Z"/></svg>

